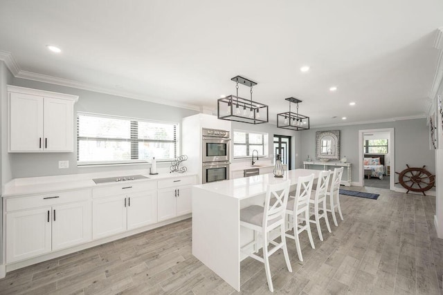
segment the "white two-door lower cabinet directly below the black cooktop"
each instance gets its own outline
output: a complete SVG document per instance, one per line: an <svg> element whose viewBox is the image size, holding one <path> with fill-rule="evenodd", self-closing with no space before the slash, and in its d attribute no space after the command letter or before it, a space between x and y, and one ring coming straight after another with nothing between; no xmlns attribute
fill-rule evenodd
<svg viewBox="0 0 443 295"><path fill-rule="evenodd" d="M121 189L116 187L115 191ZM94 239L157 222L157 193L154 190L97 198L92 207Z"/></svg>

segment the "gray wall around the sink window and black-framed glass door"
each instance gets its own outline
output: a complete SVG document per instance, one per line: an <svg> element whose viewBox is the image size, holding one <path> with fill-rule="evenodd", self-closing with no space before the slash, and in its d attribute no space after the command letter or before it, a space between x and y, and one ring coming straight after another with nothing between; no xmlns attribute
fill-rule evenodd
<svg viewBox="0 0 443 295"><path fill-rule="evenodd" d="M301 140L300 140L300 132L301 131L292 131L288 129L281 129L277 128L276 125L273 124L246 124L246 123L239 123L239 122L233 122L232 124L232 130L239 129L239 130L246 130L246 131L257 131L257 132L265 132L269 135L269 156L271 160L274 160L275 157L274 150L273 150L273 136L274 135L286 135L291 136L291 169L296 169L300 167L300 164L302 162L302 158L300 158L300 151L301 151ZM272 155L272 157L271 157Z"/></svg>

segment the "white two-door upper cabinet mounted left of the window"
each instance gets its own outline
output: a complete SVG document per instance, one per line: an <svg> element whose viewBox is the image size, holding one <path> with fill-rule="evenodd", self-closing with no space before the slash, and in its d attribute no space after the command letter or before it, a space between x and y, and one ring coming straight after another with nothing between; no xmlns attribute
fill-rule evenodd
<svg viewBox="0 0 443 295"><path fill-rule="evenodd" d="M78 96L8 85L8 151L72 152Z"/></svg>

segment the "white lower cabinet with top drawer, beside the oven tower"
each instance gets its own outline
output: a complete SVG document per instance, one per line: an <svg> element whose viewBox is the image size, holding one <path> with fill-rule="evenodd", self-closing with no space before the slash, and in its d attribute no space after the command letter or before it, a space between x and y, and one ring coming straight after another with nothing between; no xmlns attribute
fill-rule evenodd
<svg viewBox="0 0 443 295"><path fill-rule="evenodd" d="M192 212L191 186L194 176L159 180L157 213L159 221L182 216Z"/></svg>

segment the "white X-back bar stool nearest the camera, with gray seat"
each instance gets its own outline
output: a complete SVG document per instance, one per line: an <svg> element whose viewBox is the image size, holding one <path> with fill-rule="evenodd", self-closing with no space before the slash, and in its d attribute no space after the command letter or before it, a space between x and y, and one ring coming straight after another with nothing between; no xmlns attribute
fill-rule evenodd
<svg viewBox="0 0 443 295"><path fill-rule="evenodd" d="M240 225L253 229L255 236L253 242L248 243L248 245L242 247L241 250L244 254L264 263L269 291L271 292L273 292L273 285L271 269L269 267L269 256L274 254L278 249L283 249L287 268L289 272L292 272L286 245L286 238L284 236L284 216L288 202L290 184L290 180L286 180L280 184L269 184L266 190L264 207L252 205L240 210ZM280 243L269 240L269 232L273 231L273 229L277 229L278 227L280 227ZM255 246L259 240L257 239L256 234L261 234L262 236L263 257L257 256L251 253L251 251L245 251L247 248L250 249L251 244L254 245L254 249L257 249ZM271 250L268 249L269 243L275 246Z"/></svg>

